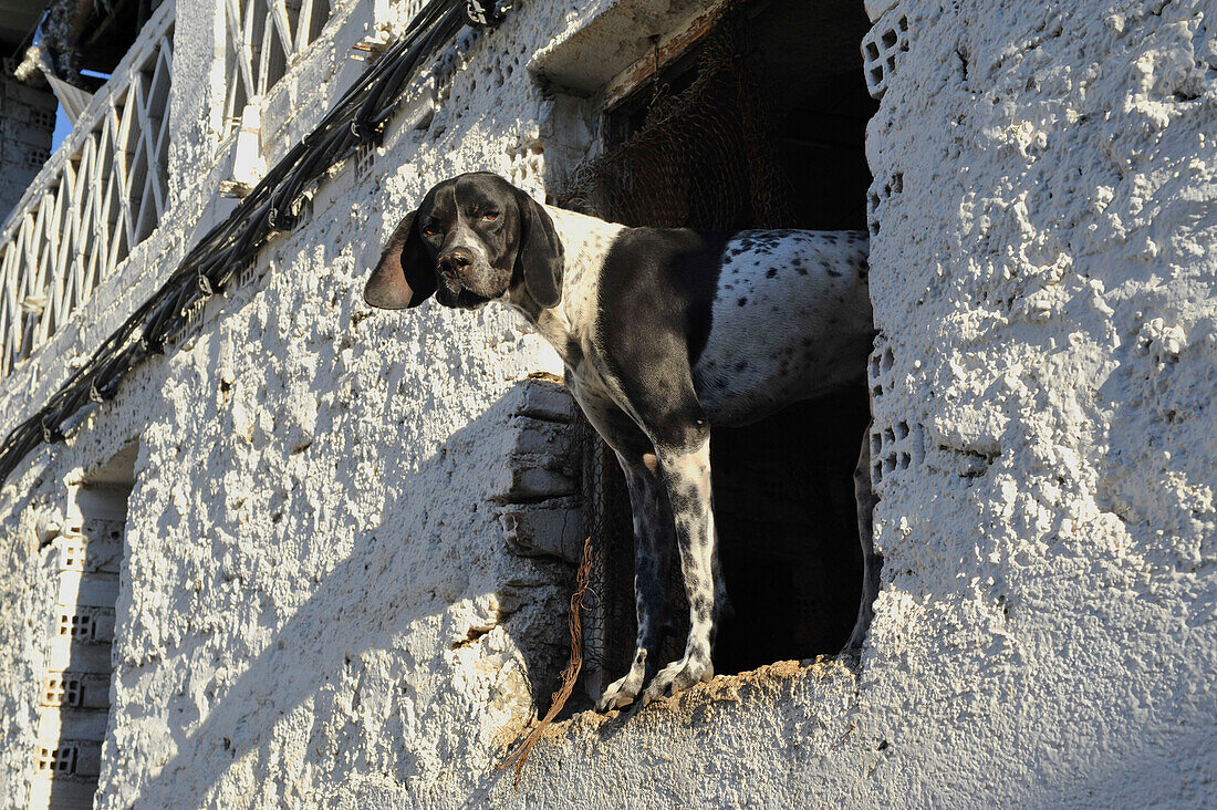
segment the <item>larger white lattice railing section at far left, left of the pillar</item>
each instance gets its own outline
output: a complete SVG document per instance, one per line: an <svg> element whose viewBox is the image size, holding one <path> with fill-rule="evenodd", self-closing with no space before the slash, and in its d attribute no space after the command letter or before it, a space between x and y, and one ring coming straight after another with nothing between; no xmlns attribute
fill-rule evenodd
<svg viewBox="0 0 1217 810"><path fill-rule="evenodd" d="M168 206L173 9L144 27L0 234L0 378L61 329Z"/></svg>

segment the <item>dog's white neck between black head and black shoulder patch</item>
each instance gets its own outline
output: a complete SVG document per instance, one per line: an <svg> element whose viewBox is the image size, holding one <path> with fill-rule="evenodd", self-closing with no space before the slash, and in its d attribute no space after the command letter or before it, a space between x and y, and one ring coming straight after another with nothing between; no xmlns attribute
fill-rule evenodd
<svg viewBox="0 0 1217 810"><path fill-rule="evenodd" d="M518 290L509 303L537 326L567 365L578 368L591 340L600 266L626 225L553 206L545 211L565 252L562 300L556 307L542 308L526 290Z"/></svg>

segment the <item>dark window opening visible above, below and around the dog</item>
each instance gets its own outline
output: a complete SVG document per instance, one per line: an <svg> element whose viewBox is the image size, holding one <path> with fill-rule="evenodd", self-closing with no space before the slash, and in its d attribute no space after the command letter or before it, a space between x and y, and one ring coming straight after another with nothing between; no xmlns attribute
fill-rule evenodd
<svg viewBox="0 0 1217 810"><path fill-rule="evenodd" d="M610 110L605 151L560 202L630 225L711 230L867 229L867 91L860 5L750 4ZM835 654L857 618L862 553L853 470L869 420L865 386L795 404L711 441L716 523L736 615L714 670ZM589 431L590 432L590 431ZM596 693L633 652L633 530L612 453L588 442L584 515L601 537L600 597L585 615ZM667 658L688 620L673 565Z"/></svg>

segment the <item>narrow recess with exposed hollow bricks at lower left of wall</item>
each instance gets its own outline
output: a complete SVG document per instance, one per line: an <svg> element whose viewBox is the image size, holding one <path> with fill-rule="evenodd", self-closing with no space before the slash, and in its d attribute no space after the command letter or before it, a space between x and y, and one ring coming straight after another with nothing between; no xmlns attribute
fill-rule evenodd
<svg viewBox="0 0 1217 810"><path fill-rule="evenodd" d="M133 445L68 487L65 531L50 547L58 592L39 691L30 808L92 806L110 721L114 603L134 460Z"/></svg>

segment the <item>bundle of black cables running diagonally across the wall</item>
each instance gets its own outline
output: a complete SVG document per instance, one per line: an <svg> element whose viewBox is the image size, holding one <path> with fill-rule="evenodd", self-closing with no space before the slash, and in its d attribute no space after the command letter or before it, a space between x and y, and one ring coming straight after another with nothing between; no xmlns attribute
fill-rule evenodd
<svg viewBox="0 0 1217 810"><path fill-rule="evenodd" d="M79 428L69 420L86 404L112 400L140 363L189 324L189 313L220 292L237 269L276 233L301 219L305 191L364 144L380 144L400 91L465 24L497 26L510 2L432 0L405 33L364 71L321 123L276 163L229 217L190 250L168 280L73 373L33 417L0 443L0 482L40 443L60 442Z"/></svg>

